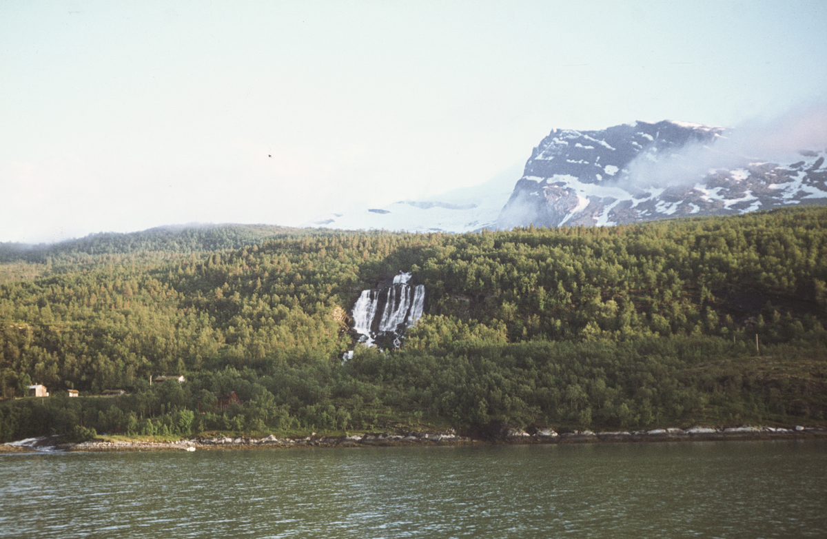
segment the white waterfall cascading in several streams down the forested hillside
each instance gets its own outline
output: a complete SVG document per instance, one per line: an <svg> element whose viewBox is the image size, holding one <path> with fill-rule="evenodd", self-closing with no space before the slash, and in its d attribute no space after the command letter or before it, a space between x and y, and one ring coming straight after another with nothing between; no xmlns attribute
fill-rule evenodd
<svg viewBox="0 0 827 539"><path fill-rule="evenodd" d="M362 291L353 306L353 331L360 342L373 346L378 337L387 336L399 346L399 337L422 317L425 304L425 286L411 286L410 279L411 274L399 272L390 286Z"/></svg>

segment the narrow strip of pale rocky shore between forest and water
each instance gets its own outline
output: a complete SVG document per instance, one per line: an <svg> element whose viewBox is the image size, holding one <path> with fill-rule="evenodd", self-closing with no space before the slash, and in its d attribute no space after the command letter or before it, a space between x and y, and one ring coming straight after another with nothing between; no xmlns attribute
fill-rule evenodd
<svg viewBox="0 0 827 539"><path fill-rule="evenodd" d="M370 447L370 446L474 446L495 444L561 444L647 441L726 441L786 440L800 438L827 439L827 427L692 427L661 428L650 431L616 432L555 432L542 429L529 433L504 429L493 435L463 436L456 432L406 432L355 434L352 436L304 436L264 438L196 437L169 442L150 441L84 441L79 444L58 443L54 436L31 438L3 444L0 452L24 451L209 451L253 448L290 447Z"/></svg>

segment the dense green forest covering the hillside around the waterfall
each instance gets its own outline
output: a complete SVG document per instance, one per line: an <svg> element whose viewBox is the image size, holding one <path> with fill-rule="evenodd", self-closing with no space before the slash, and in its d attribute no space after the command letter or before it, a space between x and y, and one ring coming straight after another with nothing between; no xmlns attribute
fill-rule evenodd
<svg viewBox="0 0 827 539"><path fill-rule="evenodd" d="M825 225L827 209L801 207L462 235L235 225L0 244L0 441L824 423ZM342 360L360 291L400 269L425 285L425 316L400 350ZM187 381L150 385L164 374ZM15 398L31 384L52 396ZM218 406L230 392L241 403Z"/></svg>

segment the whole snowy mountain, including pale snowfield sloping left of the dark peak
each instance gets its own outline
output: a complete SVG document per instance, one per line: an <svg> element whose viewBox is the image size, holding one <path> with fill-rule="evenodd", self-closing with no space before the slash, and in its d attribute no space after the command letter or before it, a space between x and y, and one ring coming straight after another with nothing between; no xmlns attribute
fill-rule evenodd
<svg viewBox="0 0 827 539"><path fill-rule="evenodd" d="M476 188L332 214L308 225L467 232L827 204L825 148L754 155L733 131L669 120L553 130L534 148L516 185L519 170L506 171Z"/></svg>

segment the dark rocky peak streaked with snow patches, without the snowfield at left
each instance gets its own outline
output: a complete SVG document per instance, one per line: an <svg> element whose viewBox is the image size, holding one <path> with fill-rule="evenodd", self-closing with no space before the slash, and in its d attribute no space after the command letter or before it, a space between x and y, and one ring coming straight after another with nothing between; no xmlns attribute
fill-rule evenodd
<svg viewBox="0 0 827 539"><path fill-rule="evenodd" d="M761 161L720 150L723 134L722 127L671 121L552 131L534 148L497 227L614 225L827 203L823 149Z"/></svg>

